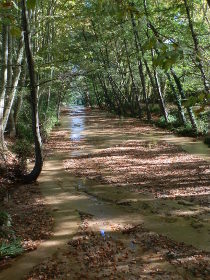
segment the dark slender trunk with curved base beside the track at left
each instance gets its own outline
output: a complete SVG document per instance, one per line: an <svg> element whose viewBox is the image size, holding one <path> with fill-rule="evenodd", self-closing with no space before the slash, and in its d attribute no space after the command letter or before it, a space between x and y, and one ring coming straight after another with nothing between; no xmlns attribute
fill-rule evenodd
<svg viewBox="0 0 210 280"><path fill-rule="evenodd" d="M38 91L36 85L36 74L34 69L34 60L31 52L29 28L26 10L26 1L22 0L22 26L24 32L24 42L26 59L28 64L28 72L30 77L30 97L31 97L31 111L32 111L32 130L34 135L35 144L35 165L30 174L24 176L24 181L33 182L36 181L39 174L42 171L43 156L42 156L42 140L39 130L39 113L38 113Z"/></svg>

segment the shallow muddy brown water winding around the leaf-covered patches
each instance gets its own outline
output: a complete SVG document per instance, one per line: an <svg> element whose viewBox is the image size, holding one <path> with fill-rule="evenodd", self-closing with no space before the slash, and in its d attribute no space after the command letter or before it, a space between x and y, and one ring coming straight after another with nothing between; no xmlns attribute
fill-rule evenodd
<svg viewBox="0 0 210 280"><path fill-rule="evenodd" d="M193 203L186 206L175 200L156 199L149 193L138 194L126 189L119 190L97 180L76 177L66 172L63 167L64 160L90 156L94 152L117 146L128 139L141 140L148 149L158 141L168 141L208 161L209 149L200 141L195 142L191 138L176 137L171 134L165 135L163 131L158 130L155 133L142 132L133 135L123 131L116 133L115 130L110 129L107 133L104 127L107 123L112 126L112 123L109 123L110 119L107 118L106 113L98 111L88 113L85 108L78 106L70 110L71 113L62 118L59 130L61 133L67 131L63 136L64 146L68 145L68 141L73 144L75 142L75 146L70 151L64 149L63 152L59 151L51 155L46 160L39 179L45 201L53 210L54 236L49 241L43 242L36 251L18 258L10 268L0 273L0 279L22 279L32 267L47 257L55 255L58 248L65 247L77 232L80 215L83 213L93 217L92 228L102 236L112 235L113 238L120 238L115 234L116 229L144 224L149 230L209 251L210 226L205 207L205 209L198 209L198 206ZM127 119L113 119L113 125L117 125L118 132L126 122ZM78 145L83 142L84 144ZM196 211L201 211L202 227L192 228L190 218L173 215L180 211L192 212L193 215ZM128 246L133 248L134 245L128 241ZM17 271L20 272L19 275Z"/></svg>

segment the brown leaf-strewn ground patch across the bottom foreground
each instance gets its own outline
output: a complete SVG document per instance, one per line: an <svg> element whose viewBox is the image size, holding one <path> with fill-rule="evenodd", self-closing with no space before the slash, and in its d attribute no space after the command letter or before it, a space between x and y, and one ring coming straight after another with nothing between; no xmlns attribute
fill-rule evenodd
<svg viewBox="0 0 210 280"><path fill-rule="evenodd" d="M66 251L36 267L27 280L208 279L210 259L192 247L142 226L96 230L88 215L81 218Z"/></svg>

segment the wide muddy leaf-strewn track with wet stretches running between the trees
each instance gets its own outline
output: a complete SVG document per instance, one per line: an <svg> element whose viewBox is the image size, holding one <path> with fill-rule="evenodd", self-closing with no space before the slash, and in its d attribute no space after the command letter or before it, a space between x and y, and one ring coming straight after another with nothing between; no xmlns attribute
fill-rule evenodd
<svg viewBox="0 0 210 280"><path fill-rule="evenodd" d="M27 279L207 279L209 166L165 138L177 141L133 119L67 110L39 180L54 237L0 279L39 263Z"/></svg>

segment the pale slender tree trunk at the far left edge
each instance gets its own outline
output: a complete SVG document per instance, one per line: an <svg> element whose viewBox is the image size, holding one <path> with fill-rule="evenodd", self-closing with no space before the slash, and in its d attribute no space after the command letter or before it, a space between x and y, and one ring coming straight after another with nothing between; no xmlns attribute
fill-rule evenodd
<svg viewBox="0 0 210 280"><path fill-rule="evenodd" d="M5 107L5 95L7 86L7 62L8 62L8 26L2 26L2 71L1 71L1 88L0 88L0 156L5 157L6 144L4 141L3 117Z"/></svg>

